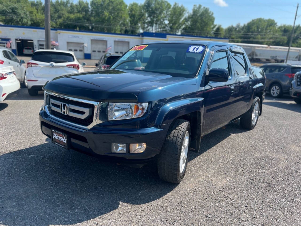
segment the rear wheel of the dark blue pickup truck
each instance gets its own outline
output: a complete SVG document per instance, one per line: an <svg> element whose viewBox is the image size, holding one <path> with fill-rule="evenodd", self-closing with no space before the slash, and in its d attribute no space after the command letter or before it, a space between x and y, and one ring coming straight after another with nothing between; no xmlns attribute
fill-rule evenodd
<svg viewBox="0 0 301 226"><path fill-rule="evenodd" d="M253 130L257 124L260 112L260 99L256 96L249 111L240 118L240 126Z"/></svg>

